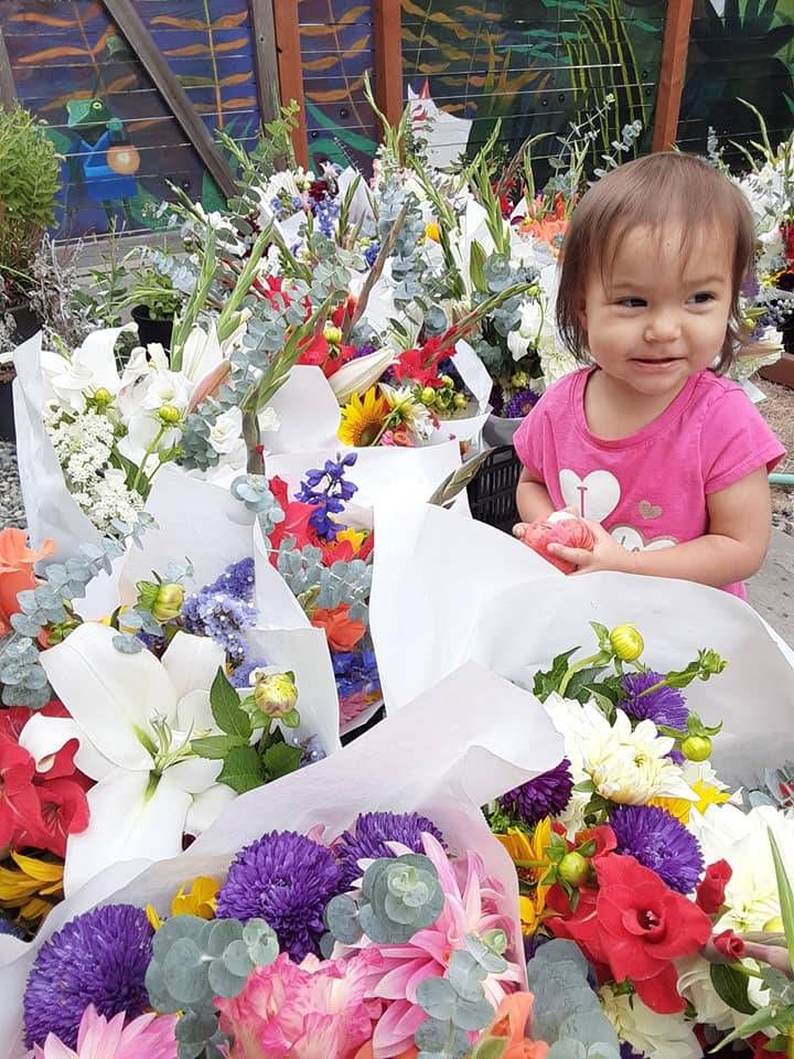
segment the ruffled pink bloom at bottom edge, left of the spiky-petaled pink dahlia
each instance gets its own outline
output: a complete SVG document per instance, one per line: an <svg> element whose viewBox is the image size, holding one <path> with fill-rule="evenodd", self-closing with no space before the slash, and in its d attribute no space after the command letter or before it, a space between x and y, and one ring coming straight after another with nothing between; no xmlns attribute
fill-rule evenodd
<svg viewBox="0 0 794 1059"><path fill-rule="evenodd" d="M221 1028L234 1038L230 1059L352 1059L372 1037L382 1004L366 997L376 951L346 960L282 952L257 967L232 999L216 997Z"/></svg>

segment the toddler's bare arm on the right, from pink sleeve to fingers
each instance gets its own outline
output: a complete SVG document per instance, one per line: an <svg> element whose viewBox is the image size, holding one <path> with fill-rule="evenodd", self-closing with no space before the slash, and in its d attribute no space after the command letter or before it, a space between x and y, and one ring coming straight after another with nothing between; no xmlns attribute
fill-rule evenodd
<svg viewBox="0 0 794 1059"><path fill-rule="evenodd" d="M715 588L752 577L761 569L770 544L772 505L766 469L760 468L728 489L711 493L707 503L709 532L670 548L627 552L602 526L592 524L596 547L591 553L554 544L548 547L575 563L579 574L621 570L676 577Z"/></svg>

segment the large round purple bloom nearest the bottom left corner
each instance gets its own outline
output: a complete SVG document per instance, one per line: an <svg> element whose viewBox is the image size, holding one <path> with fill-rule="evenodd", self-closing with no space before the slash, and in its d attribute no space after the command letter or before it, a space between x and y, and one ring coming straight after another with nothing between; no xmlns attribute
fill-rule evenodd
<svg viewBox="0 0 794 1059"><path fill-rule="evenodd" d="M111 1018L137 1018L149 1006L144 978L154 931L132 905L107 905L77 916L42 945L24 995L28 1047L55 1034L69 1048L89 1004Z"/></svg>

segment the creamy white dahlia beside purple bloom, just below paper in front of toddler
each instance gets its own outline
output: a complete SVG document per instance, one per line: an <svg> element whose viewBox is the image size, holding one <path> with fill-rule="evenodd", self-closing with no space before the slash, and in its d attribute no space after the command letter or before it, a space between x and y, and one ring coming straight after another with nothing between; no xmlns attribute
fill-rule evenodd
<svg viewBox="0 0 794 1059"><path fill-rule="evenodd" d="M610 724L592 703L582 706L556 693L545 708L565 739L575 782L589 779L599 794L624 805L644 805L652 798L695 800L679 766L667 757L674 740L659 736L652 720L632 729L618 709Z"/></svg>

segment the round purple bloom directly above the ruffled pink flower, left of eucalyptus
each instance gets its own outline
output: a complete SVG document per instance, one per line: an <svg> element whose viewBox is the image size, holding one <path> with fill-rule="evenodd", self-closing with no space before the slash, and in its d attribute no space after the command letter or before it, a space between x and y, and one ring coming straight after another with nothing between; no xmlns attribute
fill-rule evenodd
<svg viewBox="0 0 794 1059"><path fill-rule="evenodd" d="M305 835L273 831L240 849L217 896L218 919L258 917L296 962L319 955L323 912L345 889L333 854Z"/></svg>

